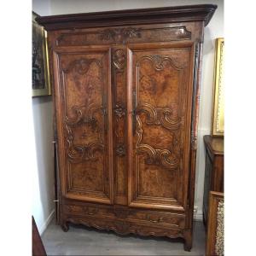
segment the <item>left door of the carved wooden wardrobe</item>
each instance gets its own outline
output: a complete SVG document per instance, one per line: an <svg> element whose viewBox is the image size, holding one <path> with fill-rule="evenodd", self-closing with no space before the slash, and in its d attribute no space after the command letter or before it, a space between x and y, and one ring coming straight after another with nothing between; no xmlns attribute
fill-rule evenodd
<svg viewBox="0 0 256 256"><path fill-rule="evenodd" d="M53 51L61 195L113 203L110 49Z"/></svg>

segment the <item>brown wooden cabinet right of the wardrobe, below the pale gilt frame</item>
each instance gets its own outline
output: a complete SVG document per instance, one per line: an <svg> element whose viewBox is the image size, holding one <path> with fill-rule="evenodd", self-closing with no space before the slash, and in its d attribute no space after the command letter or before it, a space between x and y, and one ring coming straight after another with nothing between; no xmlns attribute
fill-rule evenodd
<svg viewBox="0 0 256 256"><path fill-rule="evenodd" d="M203 220L207 227L209 192L224 192L224 137L204 136L206 169L203 200Z"/></svg>

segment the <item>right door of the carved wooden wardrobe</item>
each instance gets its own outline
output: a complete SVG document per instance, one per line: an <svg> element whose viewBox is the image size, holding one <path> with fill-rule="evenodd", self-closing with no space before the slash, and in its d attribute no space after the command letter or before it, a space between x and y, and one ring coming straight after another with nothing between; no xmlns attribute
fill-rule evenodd
<svg viewBox="0 0 256 256"><path fill-rule="evenodd" d="M194 44L128 50L128 204L187 209Z"/></svg>

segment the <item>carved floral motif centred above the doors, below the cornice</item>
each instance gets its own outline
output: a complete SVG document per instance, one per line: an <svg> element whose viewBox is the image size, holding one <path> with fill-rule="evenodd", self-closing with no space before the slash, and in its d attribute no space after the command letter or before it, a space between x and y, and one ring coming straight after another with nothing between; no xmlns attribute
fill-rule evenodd
<svg viewBox="0 0 256 256"><path fill-rule="evenodd" d="M102 30L99 38L103 41L113 40L116 44L125 44L128 38L141 38L141 29L133 27L109 28Z"/></svg>

